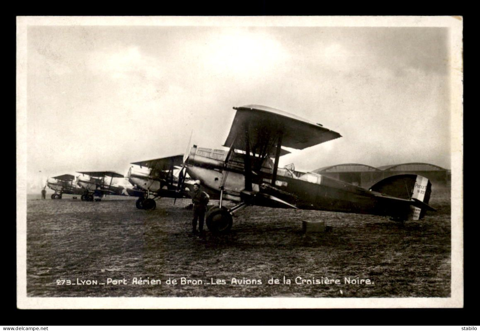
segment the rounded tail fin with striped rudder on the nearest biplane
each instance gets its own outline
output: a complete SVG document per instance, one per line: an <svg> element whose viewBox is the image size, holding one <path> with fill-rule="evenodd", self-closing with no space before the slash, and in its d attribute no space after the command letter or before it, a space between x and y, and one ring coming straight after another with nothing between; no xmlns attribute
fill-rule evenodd
<svg viewBox="0 0 480 331"><path fill-rule="evenodd" d="M432 183L426 177L414 174L391 176L382 179L370 189L410 201L408 210L401 213L402 218L407 220L419 220L427 210L435 211L428 205L432 193Z"/></svg>

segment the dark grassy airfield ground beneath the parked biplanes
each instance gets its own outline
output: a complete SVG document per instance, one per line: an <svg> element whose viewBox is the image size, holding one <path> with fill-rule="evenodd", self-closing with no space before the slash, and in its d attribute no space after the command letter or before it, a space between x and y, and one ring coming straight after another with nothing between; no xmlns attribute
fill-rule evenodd
<svg viewBox="0 0 480 331"><path fill-rule="evenodd" d="M405 225L371 215L249 207L234 217L228 235L207 231L200 238L190 234L192 211L182 208L188 200L174 206L162 199L149 212L134 201L28 200L27 296L450 296L448 190L433 192L436 213ZM302 233L302 220L320 219L333 231ZM180 284L182 277L197 284ZM296 284L298 277L340 284ZM233 278L248 284L231 284ZM271 278L279 284L269 284Z"/></svg>

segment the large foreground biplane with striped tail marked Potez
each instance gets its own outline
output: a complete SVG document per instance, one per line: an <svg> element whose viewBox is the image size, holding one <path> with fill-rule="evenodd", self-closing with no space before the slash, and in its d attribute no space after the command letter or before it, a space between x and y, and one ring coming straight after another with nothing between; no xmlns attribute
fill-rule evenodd
<svg viewBox="0 0 480 331"><path fill-rule="evenodd" d="M219 192L219 205L206 214L214 233L232 226L232 214L250 206L323 210L418 220L426 211L431 182L418 175L384 178L370 189L323 175L278 166L282 147L296 150L328 142L341 135L304 118L267 106L234 107L233 124L224 144L228 151L193 145L185 166L190 177ZM181 184L181 183L180 183ZM226 208L224 200L235 202Z"/></svg>

